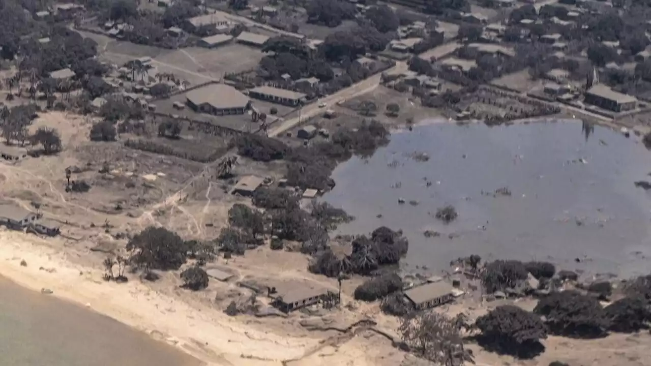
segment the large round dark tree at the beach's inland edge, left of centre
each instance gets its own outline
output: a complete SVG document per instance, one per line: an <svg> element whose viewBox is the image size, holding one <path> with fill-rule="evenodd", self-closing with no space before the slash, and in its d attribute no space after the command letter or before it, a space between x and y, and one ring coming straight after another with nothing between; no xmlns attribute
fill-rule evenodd
<svg viewBox="0 0 651 366"><path fill-rule="evenodd" d="M163 227L147 227L129 240L126 250L130 262L145 269L178 270L187 257L186 242Z"/></svg>

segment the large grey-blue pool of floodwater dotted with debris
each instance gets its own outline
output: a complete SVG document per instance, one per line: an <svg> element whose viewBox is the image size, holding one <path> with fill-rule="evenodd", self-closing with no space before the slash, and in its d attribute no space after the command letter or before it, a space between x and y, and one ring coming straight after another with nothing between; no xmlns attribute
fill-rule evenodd
<svg viewBox="0 0 651 366"><path fill-rule="evenodd" d="M408 270L447 270L450 260L478 254L585 274L648 274L651 191L633 182L651 180L651 152L639 137L599 126L587 136L582 127L437 123L396 132L368 160L339 165L324 199L356 218L339 233L402 229ZM414 152L430 159L414 160ZM493 196L503 187L512 195ZM459 216L446 225L435 215L447 204ZM426 230L441 236L426 238Z"/></svg>

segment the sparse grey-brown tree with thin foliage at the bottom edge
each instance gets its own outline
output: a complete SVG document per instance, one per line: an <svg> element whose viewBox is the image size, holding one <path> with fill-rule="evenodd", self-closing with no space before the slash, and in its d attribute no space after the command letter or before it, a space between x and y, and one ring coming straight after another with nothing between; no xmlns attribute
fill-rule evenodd
<svg viewBox="0 0 651 366"><path fill-rule="evenodd" d="M458 322L446 315L434 311L409 313L402 318L398 332L411 351L438 365L474 363L471 352L464 348Z"/></svg>

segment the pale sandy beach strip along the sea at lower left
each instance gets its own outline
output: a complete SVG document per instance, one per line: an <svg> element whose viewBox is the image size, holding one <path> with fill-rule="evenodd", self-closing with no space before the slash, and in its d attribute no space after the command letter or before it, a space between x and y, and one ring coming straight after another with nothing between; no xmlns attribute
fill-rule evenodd
<svg viewBox="0 0 651 366"><path fill-rule="evenodd" d="M43 239L27 235L0 229L0 276L36 292L49 289L47 296L113 318L202 365L282 365L286 359L301 358L316 343L255 330L217 309L201 311L149 289L137 278L107 283L101 270L73 264L64 253L39 245ZM27 266L21 266L21 260Z"/></svg>

